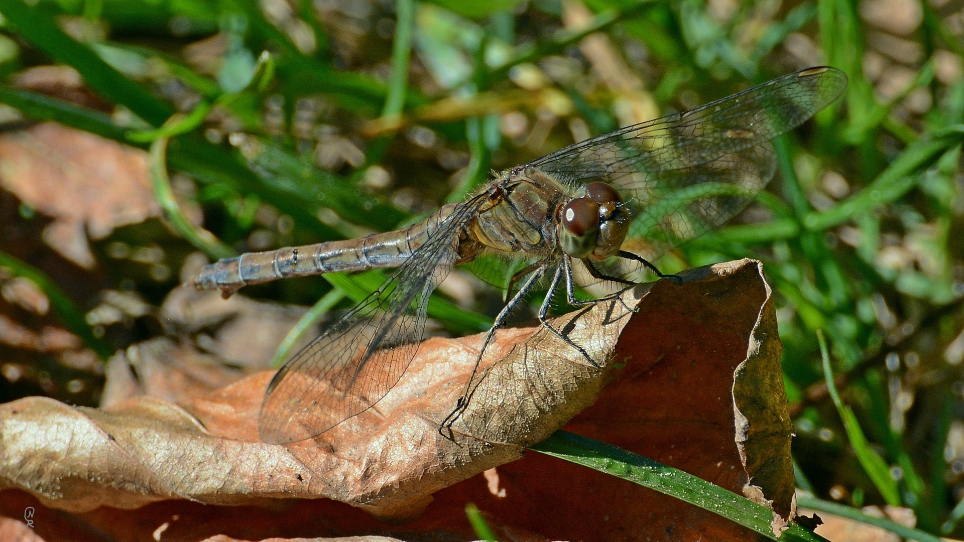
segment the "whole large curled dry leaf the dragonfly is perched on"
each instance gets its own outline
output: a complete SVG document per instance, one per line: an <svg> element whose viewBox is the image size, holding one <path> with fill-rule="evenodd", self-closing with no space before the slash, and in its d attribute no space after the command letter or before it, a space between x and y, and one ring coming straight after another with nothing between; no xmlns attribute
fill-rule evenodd
<svg viewBox="0 0 964 542"><path fill-rule="evenodd" d="M438 425L462 393L480 336L425 340L374 408L287 446L257 441L269 372L180 405L140 398L100 411L45 398L15 401L0 406L0 483L78 512L177 498L251 504L328 497L398 520L435 498L398 528L360 522L357 512L324 500L276 514L280 522L307 515L310 525L342 535L362 528L333 518L354 518L367 531L454 523L465 532L460 518L474 501L500 525L553 538L755 539L708 511L549 456L529 453L509 463L572 419L569 430L769 503L780 528L794 507L791 429L762 268L740 260L683 279L679 286L638 285L554 320L594 359L606 360L602 368L542 328L499 332L454 427L456 443L443 439ZM318 511L308 513L309 506ZM246 510L236 521L248 519Z"/></svg>

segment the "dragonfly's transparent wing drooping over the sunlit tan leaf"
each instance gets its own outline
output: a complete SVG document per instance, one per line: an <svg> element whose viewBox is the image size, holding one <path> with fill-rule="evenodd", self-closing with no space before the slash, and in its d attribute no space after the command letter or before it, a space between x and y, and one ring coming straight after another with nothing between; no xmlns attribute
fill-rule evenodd
<svg viewBox="0 0 964 542"><path fill-rule="evenodd" d="M385 284L279 369L261 404L262 441L310 439L388 393L415 357L429 296L455 263L459 233L481 201L427 225L428 241Z"/></svg>

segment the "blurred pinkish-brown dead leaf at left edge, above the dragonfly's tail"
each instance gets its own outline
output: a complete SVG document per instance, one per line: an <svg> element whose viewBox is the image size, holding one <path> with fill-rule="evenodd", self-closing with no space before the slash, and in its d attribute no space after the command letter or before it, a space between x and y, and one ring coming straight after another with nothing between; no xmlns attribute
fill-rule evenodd
<svg viewBox="0 0 964 542"><path fill-rule="evenodd" d="M95 263L86 233L102 238L160 214L147 152L56 122L0 134L0 182L55 219L44 241L86 269Z"/></svg>

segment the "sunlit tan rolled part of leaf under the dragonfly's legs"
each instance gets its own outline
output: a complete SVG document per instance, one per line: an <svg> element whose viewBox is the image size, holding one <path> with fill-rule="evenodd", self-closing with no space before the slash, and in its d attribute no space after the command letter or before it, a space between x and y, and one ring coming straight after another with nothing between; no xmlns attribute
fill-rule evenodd
<svg viewBox="0 0 964 542"><path fill-rule="evenodd" d="M627 296L646 289L640 286ZM634 304L629 297L627 302ZM613 300L564 316L556 325L564 329L566 321L575 320L570 337L605 359L628 315ZM601 326L603 320L608 321ZM19 463L26 455L40 458L58 450L57 461L42 461L57 465L53 472L19 470L13 485L71 511L108 504L137 507L171 498L229 504L330 497L384 515L412 514L435 491L518 459L526 445L542 440L592 402L603 369L585 365L569 348L554 353L559 347L547 336L538 327L497 334L487 360L498 363L477 393L486 399L473 401L466 421L456 424L457 443L442 438L438 427L462 393L481 335L424 341L403 380L375 408L311 441L286 447L258 442L258 408L272 376L261 372L185 401L183 408L154 398L121 402L106 412L42 397L14 401L0 407L4 456ZM525 348L514 348L517 344ZM515 374L532 370L527 363L536 364L539 376L549 381ZM529 396L531 386L542 388L540 397ZM494 417L493 410L481 407L483 402L494 410L511 402L516 414ZM56 445L55 435L66 440ZM63 445L67 456L61 455ZM71 457L73 448L83 450L83 459ZM222 458L244 468L225 469ZM80 461L84 469L78 473ZM97 491L107 473L122 480L117 484L126 491Z"/></svg>

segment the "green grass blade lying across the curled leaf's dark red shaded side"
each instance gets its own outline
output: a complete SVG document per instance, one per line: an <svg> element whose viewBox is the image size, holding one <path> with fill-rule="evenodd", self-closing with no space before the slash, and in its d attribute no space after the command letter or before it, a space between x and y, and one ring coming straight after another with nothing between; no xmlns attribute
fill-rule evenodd
<svg viewBox="0 0 964 542"><path fill-rule="evenodd" d="M699 476L684 473L621 447L607 445L567 431L556 431L548 439L531 448L601 473L612 474L710 510L772 540L825 542L823 537L794 524L790 524L790 528L777 538L770 527L773 510Z"/></svg>

